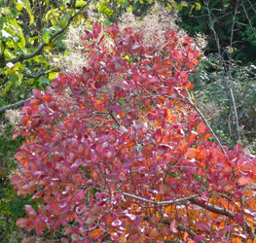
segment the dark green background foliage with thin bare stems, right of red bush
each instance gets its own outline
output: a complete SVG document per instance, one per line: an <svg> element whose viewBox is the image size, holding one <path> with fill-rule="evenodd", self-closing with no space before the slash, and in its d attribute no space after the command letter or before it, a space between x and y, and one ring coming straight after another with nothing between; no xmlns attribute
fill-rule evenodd
<svg viewBox="0 0 256 243"><path fill-rule="evenodd" d="M256 138L255 3L187 1L180 15L191 36L207 36L206 58L191 77L204 114L223 143L248 146Z"/></svg>

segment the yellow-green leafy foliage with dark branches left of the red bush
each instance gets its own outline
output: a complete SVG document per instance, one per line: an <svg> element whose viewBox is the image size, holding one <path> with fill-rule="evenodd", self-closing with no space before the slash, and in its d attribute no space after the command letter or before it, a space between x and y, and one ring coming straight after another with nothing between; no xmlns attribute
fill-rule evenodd
<svg viewBox="0 0 256 243"><path fill-rule="evenodd" d="M10 123L4 113L22 106L23 101L31 97L32 88L45 90L54 80L59 70L51 65L50 59L59 52L70 55L62 42L70 24L77 26L82 19L101 15L109 25L125 11L143 16L153 4L152 1L126 0L73 2L75 6L70 5L69 0L0 1L0 217L8 222L1 227L1 242L11 239L19 242L14 238L13 229L20 217L20 207L29 202L28 197L20 199L22 203L19 201L8 179L16 166L13 156L22 139L19 138L18 143L11 141L16 125ZM8 205L18 210L9 210Z"/></svg>

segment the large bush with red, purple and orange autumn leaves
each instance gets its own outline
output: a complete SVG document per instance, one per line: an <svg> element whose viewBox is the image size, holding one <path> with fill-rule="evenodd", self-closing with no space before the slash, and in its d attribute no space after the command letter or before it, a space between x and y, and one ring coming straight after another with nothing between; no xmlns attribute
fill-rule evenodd
<svg viewBox="0 0 256 243"><path fill-rule="evenodd" d="M164 38L94 23L83 74L33 90L12 182L42 203L18 226L63 226L73 243L255 242L256 158L213 142L186 102L201 53L189 36Z"/></svg>

